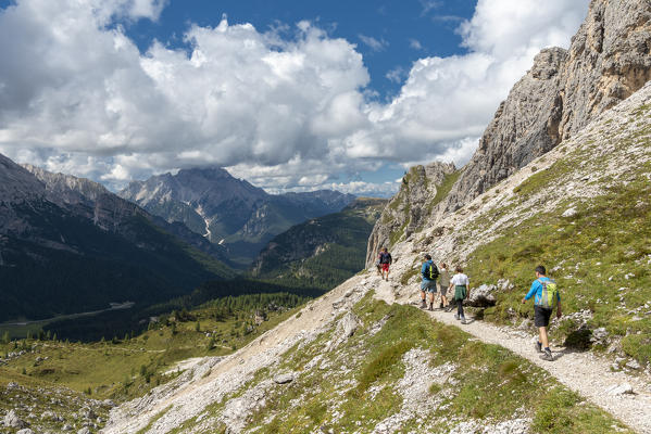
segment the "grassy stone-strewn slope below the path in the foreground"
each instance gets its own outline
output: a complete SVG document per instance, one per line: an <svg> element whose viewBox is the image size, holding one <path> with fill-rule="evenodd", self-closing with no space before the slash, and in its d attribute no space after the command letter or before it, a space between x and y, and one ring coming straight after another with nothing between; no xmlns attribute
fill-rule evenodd
<svg viewBox="0 0 651 434"><path fill-rule="evenodd" d="M431 369L453 363L452 375L429 390L428 403L436 403L401 424L400 432L449 432L460 421L484 424L530 417L537 433L610 433L613 426L629 432L594 406L586 403L547 372L496 346L471 339L458 328L431 321L420 309L388 306L366 296L354 308L363 321L355 334L336 350L324 353L334 327L315 341L297 344L285 354L274 371L298 371L289 385L272 385L265 405L248 419L247 430L258 433L371 432L385 418L402 407L398 382L405 367L403 355L412 348L428 354ZM371 330L385 320L376 334ZM322 357L322 366L305 368ZM324 365L325 363L325 365ZM318 366L318 363L317 363ZM255 379L228 398L273 378L261 370ZM202 424L216 421L224 401L187 421L176 432L189 432L201 418ZM214 422L214 432L225 426Z"/></svg>

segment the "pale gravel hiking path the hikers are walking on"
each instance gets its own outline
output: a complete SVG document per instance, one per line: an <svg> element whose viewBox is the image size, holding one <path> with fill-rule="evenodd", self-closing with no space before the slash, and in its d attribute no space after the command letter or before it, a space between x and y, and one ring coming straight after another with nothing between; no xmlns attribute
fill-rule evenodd
<svg viewBox="0 0 651 434"><path fill-rule="evenodd" d="M400 304L417 304L420 301L417 288L406 290L391 280L381 281L379 277L371 279L377 279L376 298L378 299ZM501 345L512 350L544 369L565 386L603 408L631 429L639 433L651 434L651 379L628 375L622 371L612 372L610 362L604 358L591 353L575 353L559 347L552 347L556 359L552 362L544 361L534 349L534 336L524 331L475 320L462 326L454 319L454 312L435 310L427 314L437 321L460 327L483 342ZM624 383L633 386L634 394L609 393Z"/></svg>

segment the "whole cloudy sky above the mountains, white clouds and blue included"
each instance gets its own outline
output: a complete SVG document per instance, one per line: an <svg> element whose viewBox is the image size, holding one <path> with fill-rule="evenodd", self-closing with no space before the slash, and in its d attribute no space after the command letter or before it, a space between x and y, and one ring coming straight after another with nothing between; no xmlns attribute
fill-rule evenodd
<svg viewBox="0 0 651 434"><path fill-rule="evenodd" d="M0 153L116 191L217 165L387 196L463 166L589 0L0 0Z"/></svg>

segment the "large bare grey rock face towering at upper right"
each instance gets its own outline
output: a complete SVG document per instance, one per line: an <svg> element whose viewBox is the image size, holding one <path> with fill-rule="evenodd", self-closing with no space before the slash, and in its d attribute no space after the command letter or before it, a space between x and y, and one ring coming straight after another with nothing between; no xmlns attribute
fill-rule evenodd
<svg viewBox="0 0 651 434"><path fill-rule="evenodd" d="M500 104L447 199L453 212L651 79L651 2L593 0L569 50L542 50Z"/></svg>

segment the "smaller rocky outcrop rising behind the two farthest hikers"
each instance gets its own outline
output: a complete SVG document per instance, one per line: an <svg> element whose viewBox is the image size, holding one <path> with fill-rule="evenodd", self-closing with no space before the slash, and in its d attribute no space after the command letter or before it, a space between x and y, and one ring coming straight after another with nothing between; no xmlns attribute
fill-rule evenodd
<svg viewBox="0 0 651 434"><path fill-rule="evenodd" d="M366 266L374 263L381 247L390 247L403 234L422 227L433 212L440 186L456 171L452 163L435 162L415 166L402 178L400 191L383 210L368 238Z"/></svg>

